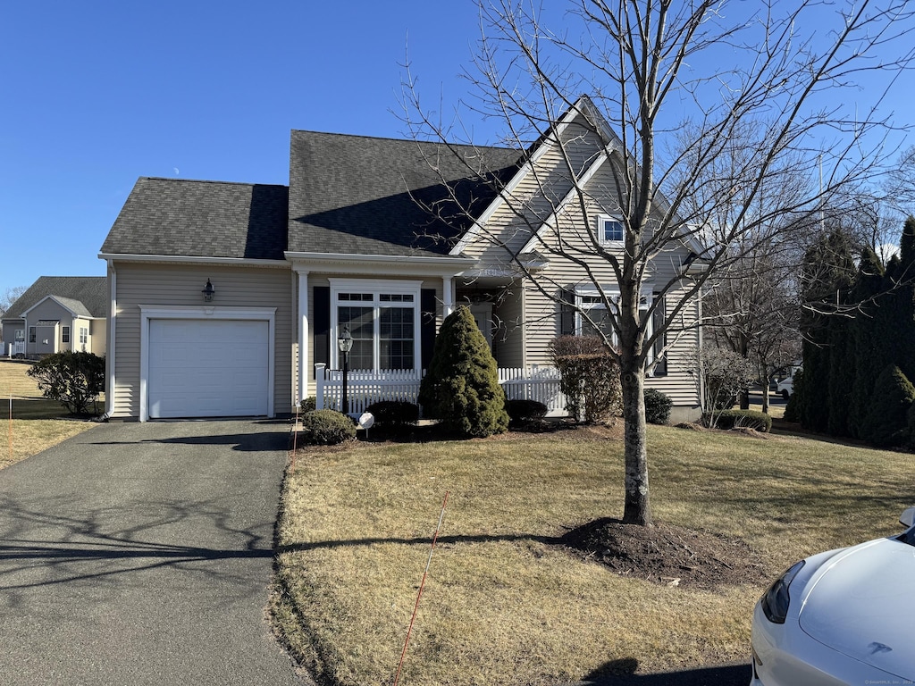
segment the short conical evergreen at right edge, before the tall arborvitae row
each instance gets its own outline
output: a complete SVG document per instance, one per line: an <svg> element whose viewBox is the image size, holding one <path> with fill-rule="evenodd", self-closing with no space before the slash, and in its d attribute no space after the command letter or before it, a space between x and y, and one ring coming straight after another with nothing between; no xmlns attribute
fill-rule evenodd
<svg viewBox="0 0 915 686"><path fill-rule="evenodd" d="M861 424L861 437L874 445L908 444L912 402L915 402L915 386L899 367L887 365L874 382L870 407Z"/></svg>

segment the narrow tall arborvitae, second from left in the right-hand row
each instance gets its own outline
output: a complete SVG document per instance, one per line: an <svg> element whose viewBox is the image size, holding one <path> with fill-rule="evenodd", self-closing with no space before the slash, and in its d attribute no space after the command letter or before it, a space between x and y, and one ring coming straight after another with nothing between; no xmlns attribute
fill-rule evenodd
<svg viewBox="0 0 915 686"><path fill-rule="evenodd" d="M861 426L870 409L871 394L874 392L874 380L887 366L889 359L885 356L886 341L879 333L878 322L880 299L883 292L883 265L877 254L870 248L861 252L861 261L855 278L852 300L857 305L852 320L853 355L849 364L854 365L854 377L851 394L848 398L847 427L848 433L862 438Z"/></svg>

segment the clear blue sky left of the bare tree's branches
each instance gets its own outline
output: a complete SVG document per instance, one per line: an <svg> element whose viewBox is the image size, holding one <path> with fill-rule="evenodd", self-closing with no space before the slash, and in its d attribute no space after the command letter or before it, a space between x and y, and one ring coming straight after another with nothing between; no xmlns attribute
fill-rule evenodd
<svg viewBox="0 0 915 686"><path fill-rule="evenodd" d="M137 177L285 184L291 129L403 135L407 48L454 102L478 36L472 0L5 3L0 293L102 275Z"/></svg>

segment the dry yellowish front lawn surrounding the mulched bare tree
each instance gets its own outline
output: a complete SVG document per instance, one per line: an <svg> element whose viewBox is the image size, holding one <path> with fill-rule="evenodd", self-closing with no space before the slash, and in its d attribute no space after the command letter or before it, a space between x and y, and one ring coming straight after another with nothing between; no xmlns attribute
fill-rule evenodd
<svg viewBox="0 0 915 686"><path fill-rule="evenodd" d="M774 576L899 531L912 456L809 438L649 428L656 519L739 536ZM300 450L287 478L275 615L338 684L389 683L449 505L403 684L540 684L614 665L748 659L763 585L623 578L544 537L622 509L622 445L587 432Z"/></svg>

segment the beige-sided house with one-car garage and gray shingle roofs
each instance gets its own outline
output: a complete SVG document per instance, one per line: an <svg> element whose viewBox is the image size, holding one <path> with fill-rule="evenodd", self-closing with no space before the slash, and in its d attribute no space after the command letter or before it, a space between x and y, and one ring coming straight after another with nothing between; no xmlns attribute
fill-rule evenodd
<svg viewBox="0 0 915 686"><path fill-rule="evenodd" d="M554 134L576 142L594 188L607 188L606 155L575 112ZM534 198L544 169L549 177L558 166L553 140L544 135L524 164L506 148L452 146L458 159L436 143L293 131L288 187L140 178L99 255L113 306L108 413L141 421L289 413L315 394L316 365L339 369L344 326L354 338L350 369L418 374L458 304L470 307L500 367L549 365L553 338L587 332L563 302L599 309L594 288L582 267L544 258L539 248L551 239L519 230L511 208L468 166L485 164L490 179ZM567 188L553 177L561 197ZM472 220L454 211L443 178ZM574 212L573 203L551 221ZM588 230L618 249L618 224L597 223ZM493 233L551 284L553 298L484 240ZM575 236L570 230L564 241ZM660 283L670 276L665 264L692 256L678 242L651 278ZM590 266L612 290L607 264L595 256ZM649 279L643 300L652 296ZM658 346L648 382L681 416L699 405L699 342L693 328L663 355Z"/></svg>

